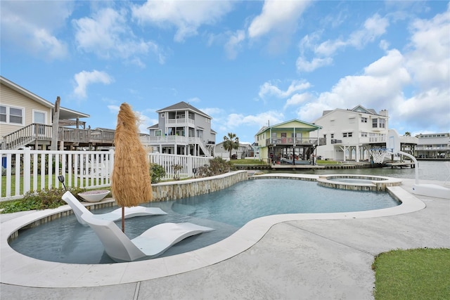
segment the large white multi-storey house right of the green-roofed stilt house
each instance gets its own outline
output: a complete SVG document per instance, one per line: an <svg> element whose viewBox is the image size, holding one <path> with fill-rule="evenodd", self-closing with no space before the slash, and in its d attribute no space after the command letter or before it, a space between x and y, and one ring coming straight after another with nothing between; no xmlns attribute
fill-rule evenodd
<svg viewBox="0 0 450 300"><path fill-rule="evenodd" d="M379 113L362 105L352 110L324 110L314 124L322 127L321 138L326 143L317 148L323 159L345 161L369 159L370 148L385 148L388 132L387 110Z"/></svg>

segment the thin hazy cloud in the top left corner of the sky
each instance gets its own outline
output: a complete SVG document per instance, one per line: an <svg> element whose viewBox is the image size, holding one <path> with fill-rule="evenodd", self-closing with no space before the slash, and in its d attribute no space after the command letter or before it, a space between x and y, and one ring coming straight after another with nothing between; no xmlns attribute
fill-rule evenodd
<svg viewBox="0 0 450 300"><path fill-rule="evenodd" d="M72 13L69 1L1 1L1 47L21 48L46 60L68 56L68 46L56 37Z"/></svg>

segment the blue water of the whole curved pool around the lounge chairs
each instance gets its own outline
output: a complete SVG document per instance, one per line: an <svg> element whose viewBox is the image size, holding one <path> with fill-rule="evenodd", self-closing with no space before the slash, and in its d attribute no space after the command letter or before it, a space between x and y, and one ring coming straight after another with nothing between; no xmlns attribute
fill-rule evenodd
<svg viewBox="0 0 450 300"><path fill-rule="evenodd" d="M160 207L168 214L126 219L125 233L130 239L165 222L192 222L215 229L182 240L160 256L163 257L219 242L248 221L261 216L364 211L394 207L399 202L388 193L324 188L315 181L256 179L236 183L210 194L142 205ZM93 212L101 214L115 208L96 209ZM117 221L117 226L120 227L120 223ZM22 230L10 244L15 251L44 261L114 263L105 254L94 231L81 226L73 215Z"/></svg>

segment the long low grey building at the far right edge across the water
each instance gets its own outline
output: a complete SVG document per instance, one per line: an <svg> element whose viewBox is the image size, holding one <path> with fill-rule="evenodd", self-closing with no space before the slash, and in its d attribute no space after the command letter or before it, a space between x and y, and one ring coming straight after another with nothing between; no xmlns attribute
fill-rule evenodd
<svg viewBox="0 0 450 300"><path fill-rule="evenodd" d="M450 159L450 133L428 133L416 136L414 155L418 159Z"/></svg>

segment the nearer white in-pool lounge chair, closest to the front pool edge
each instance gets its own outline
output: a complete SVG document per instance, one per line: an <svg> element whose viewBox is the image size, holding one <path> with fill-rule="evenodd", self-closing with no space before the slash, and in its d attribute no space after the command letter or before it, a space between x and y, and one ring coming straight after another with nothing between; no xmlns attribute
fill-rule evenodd
<svg viewBox="0 0 450 300"><path fill-rule="evenodd" d="M105 252L117 262L152 259L186 237L214 230L193 223L162 223L130 240L113 221L82 214L82 219L95 231Z"/></svg>

